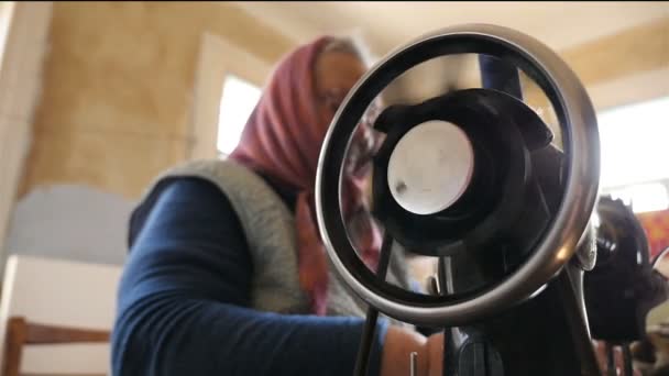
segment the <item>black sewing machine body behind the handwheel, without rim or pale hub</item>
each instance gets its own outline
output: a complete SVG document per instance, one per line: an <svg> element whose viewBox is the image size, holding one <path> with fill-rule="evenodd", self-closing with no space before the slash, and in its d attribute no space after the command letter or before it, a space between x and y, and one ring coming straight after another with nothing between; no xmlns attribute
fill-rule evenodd
<svg viewBox="0 0 669 376"><path fill-rule="evenodd" d="M459 124L475 140L474 159L482 167L448 210L414 218L384 191L386 163L412 125L435 119ZM526 261L559 209L564 180L563 153L550 144L552 134L534 111L502 91L468 89L390 107L375 126L387 132L374 162L375 215L410 252L442 257L439 294L475 294ZM445 375L596 374L582 294L583 272L594 265L591 246L584 241L581 262L568 264L525 301L443 328Z"/></svg>

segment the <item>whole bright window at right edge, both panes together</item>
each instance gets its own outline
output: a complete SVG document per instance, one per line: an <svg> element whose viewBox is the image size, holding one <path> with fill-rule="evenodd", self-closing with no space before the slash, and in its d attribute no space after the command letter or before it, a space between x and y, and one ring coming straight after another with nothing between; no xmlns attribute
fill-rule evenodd
<svg viewBox="0 0 669 376"><path fill-rule="evenodd" d="M669 208L669 97L605 111L597 117L602 191L635 212Z"/></svg>

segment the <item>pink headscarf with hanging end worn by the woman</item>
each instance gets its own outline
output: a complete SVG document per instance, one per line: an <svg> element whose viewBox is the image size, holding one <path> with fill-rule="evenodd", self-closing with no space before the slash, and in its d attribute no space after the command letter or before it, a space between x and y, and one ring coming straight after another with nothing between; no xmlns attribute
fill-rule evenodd
<svg viewBox="0 0 669 376"><path fill-rule="evenodd" d="M315 218L314 189L318 155L332 114L319 112L315 65L330 41L319 37L278 64L246 122L239 146L230 155L297 193L299 283L311 299L312 312L320 316L327 307L328 265ZM351 175L344 181L350 192L343 202L344 215L352 219L349 228L353 228L352 236L363 261L375 268L379 230L364 210L357 180Z"/></svg>

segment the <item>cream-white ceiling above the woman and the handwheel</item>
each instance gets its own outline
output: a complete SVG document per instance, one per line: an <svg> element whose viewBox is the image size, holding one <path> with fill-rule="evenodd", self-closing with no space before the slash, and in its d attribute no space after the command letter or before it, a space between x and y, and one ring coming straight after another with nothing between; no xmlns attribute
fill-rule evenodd
<svg viewBox="0 0 669 376"><path fill-rule="evenodd" d="M235 4L296 42L325 33L361 36L375 54L443 26L493 23L563 49L669 16L669 2L288 1Z"/></svg>

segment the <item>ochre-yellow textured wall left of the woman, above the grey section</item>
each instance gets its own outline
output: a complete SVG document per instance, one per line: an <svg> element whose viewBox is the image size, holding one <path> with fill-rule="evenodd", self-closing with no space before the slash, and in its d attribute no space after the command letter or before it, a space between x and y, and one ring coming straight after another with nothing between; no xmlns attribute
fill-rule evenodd
<svg viewBox="0 0 669 376"><path fill-rule="evenodd" d="M81 184L136 198L183 161L204 32L265 60L293 46L227 3L55 2L21 196Z"/></svg>

